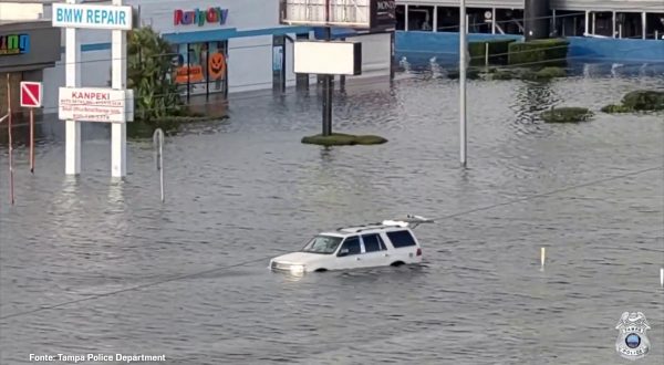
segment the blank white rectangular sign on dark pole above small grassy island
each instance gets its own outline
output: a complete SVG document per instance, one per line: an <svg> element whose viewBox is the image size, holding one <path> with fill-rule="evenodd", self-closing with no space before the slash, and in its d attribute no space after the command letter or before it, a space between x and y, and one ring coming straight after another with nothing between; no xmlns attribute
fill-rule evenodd
<svg viewBox="0 0 664 365"><path fill-rule="evenodd" d="M362 73L362 43L297 41L293 69L295 73L359 75Z"/></svg>

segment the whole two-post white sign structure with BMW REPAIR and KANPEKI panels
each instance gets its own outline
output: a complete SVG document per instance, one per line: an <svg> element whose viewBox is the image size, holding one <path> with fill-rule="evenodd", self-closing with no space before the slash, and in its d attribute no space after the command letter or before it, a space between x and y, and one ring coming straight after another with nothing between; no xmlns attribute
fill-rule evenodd
<svg viewBox="0 0 664 365"><path fill-rule="evenodd" d="M111 175L126 176L126 122L133 121L134 94L126 90L126 31L133 28L132 7L124 0L113 6L80 4L77 0L53 3L53 27L65 28L66 87L60 88L59 114L66 119L65 174L81 173L80 122L107 122L111 125ZM111 88L81 86L81 44L76 31L107 29L112 31Z"/></svg>

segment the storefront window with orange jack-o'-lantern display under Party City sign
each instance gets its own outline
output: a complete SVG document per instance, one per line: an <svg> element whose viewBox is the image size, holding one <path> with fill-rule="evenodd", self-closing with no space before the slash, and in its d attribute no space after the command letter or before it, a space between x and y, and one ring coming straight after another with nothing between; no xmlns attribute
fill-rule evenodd
<svg viewBox="0 0 664 365"><path fill-rule="evenodd" d="M228 42L175 44L174 80L185 96L227 92Z"/></svg>

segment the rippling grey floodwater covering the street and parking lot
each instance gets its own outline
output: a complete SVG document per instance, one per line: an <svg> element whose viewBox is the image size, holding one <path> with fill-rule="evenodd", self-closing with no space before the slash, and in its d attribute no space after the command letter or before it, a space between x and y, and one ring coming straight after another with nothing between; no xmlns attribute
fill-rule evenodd
<svg viewBox="0 0 664 365"><path fill-rule="evenodd" d="M336 92L334 129L380 134L381 146L300 144L320 129L315 88L234 96L227 123L166 138L164 204L152 140L129 142L118 182L105 126L84 126L74 179L61 124L42 126L34 175L17 137L14 206L0 155L0 363L625 364L615 325L639 311L652 327L640 364L662 364L663 115L599 112L664 87L662 70L469 81L466 170L457 83L442 73ZM596 115L544 124L551 105ZM416 230L421 267L267 269L319 230L403 213L438 218Z"/></svg>

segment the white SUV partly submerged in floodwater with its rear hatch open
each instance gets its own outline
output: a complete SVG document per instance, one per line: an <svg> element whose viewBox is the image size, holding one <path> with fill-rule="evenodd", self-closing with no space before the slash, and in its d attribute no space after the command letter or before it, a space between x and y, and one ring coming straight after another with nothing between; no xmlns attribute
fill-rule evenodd
<svg viewBox="0 0 664 365"><path fill-rule="evenodd" d="M430 222L430 219L408 215L402 219L322 232L302 250L270 260L270 269L304 273L419 263L422 247L413 229Z"/></svg>

